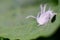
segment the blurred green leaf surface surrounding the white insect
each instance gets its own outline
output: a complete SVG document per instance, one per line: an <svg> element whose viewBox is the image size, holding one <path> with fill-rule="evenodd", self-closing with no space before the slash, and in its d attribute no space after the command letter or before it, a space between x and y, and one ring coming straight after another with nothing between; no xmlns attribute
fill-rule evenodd
<svg viewBox="0 0 60 40"><path fill-rule="evenodd" d="M54 23L47 26L37 26L35 19L25 19L28 15L37 16L40 4L57 13ZM30 40L38 36L52 35L60 24L60 5L58 0L0 0L0 40Z"/></svg>

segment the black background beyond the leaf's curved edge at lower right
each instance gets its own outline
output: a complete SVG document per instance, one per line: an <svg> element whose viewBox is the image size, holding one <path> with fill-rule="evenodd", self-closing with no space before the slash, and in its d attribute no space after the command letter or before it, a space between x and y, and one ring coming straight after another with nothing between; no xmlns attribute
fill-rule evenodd
<svg viewBox="0 0 60 40"><path fill-rule="evenodd" d="M55 31L54 34L52 34L49 37L37 37L35 39L32 40L60 40L60 26L59 28Z"/></svg>

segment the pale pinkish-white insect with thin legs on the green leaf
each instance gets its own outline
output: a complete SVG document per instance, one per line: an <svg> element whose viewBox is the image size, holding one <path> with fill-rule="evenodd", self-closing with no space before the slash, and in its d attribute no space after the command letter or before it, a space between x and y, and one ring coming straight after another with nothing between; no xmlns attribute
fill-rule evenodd
<svg viewBox="0 0 60 40"><path fill-rule="evenodd" d="M35 18L37 20L38 25L45 25L46 23L48 23L49 21L51 21L51 19L53 18L54 15L56 15L56 13L54 13L52 10L50 10L50 8L46 11L46 4L40 5L41 8L41 12L38 13L37 17L34 17L32 15L27 16L26 18Z"/></svg>

